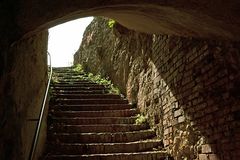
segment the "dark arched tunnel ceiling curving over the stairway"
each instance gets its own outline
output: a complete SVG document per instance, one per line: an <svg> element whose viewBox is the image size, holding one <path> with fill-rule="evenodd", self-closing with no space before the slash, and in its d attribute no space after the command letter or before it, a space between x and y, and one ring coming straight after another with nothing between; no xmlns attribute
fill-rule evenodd
<svg viewBox="0 0 240 160"><path fill-rule="evenodd" d="M22 34L86 16L106 16L146 33L211 39L240 39L238 0L22 0Z"/></svg>

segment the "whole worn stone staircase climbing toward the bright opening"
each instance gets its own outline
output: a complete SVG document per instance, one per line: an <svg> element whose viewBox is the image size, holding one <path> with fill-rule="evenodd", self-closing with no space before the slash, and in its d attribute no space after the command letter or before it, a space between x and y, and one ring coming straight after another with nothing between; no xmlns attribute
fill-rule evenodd
<svg viewBox="0 0 240 160"><path fill-rule="evenodd" d="M135 124L138 110L126 99L71 68L54 73L45 160L167 159L155 132Z"/></svg>

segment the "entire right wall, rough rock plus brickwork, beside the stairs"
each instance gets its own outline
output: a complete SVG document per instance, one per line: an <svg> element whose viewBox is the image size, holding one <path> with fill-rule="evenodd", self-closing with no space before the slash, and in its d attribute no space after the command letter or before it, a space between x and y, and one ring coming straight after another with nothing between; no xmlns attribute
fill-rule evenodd
<svg viewBox="0 0 240 160"><path fill-rule="evenodd" d="M240 44L147 35L95 18L74 63L109 77L176 160L240 157Z"/></svg>

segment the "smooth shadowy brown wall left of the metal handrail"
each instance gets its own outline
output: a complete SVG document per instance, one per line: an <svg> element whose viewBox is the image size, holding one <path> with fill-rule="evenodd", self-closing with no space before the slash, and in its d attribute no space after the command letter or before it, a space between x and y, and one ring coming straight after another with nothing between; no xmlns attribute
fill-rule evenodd
<svg viewBox="0 0 240 160"><path fill-rule="evenodd" d="M48 32L43 31L14 43L2 57L1 160L28 158L47 81L47 41ZM42 133L42 143L44 136Z"/></svg>

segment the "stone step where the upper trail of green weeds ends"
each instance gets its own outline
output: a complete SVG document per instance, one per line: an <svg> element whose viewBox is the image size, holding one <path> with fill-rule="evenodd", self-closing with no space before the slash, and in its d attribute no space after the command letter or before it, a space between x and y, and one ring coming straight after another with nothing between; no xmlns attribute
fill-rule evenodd
<svg viewBox="0 0 240 160"><path fill-rule="evenodd" d="M57 99L121 99L117 94L56 94Z"/></svg>

